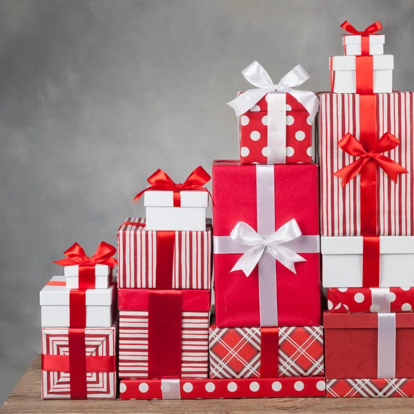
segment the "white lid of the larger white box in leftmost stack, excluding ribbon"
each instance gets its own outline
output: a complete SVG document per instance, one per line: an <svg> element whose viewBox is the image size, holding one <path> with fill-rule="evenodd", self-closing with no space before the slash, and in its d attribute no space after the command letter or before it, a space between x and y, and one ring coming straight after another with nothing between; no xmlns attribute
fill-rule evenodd
<svg viewBox="0 0 414 414"><path fill-rule="evenodd" d="M62 283L62 286L46 285L40 292L40 306L69 306L70 289L64 285L64 276L53 276L50 282ZM115 286L106 289L87 289L87 306L106 306L113 302L115 297Z"/></svg>

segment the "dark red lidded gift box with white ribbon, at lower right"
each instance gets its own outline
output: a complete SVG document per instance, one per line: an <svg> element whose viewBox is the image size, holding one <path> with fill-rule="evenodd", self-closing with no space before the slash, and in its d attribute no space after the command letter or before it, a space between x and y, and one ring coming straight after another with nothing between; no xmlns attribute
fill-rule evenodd
<svg viewBox="0 0 414 414"><path fill-rule="evenodd" d="M414 313L324 313L325 376L413 378Z"/></svg>

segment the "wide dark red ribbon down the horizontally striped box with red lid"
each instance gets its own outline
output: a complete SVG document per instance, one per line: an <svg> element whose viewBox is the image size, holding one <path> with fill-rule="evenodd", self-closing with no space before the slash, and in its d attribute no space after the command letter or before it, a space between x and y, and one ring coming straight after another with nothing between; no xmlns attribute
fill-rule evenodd
<svg viewBox="0 0 414 414"><path fill-rule="evenodd" d="M181 377L181 290L148 293L148 377Z"/></svg>

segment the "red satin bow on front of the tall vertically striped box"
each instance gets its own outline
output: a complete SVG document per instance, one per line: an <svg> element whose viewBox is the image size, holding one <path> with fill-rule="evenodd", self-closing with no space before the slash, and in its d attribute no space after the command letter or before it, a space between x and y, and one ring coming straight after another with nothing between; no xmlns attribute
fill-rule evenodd
<svg viewBox="0 0 414 414"><path fill-rule="evenodd" d="M391 158L382 155L382 152L393 150L398 146L398 144L400 144L400 140L398 140L390 132L386 132L377 141L373 150L366 151L362 144L348 132L338 142L338 146L347 154L359 157L359 159L354 161L352 164L341 168L337 172L334 172L333 175L341 179L341 186L344 188L349 181L361 172L366 163L369 161L375 161L375 163L377 163L377 165L384 170L388 177L390 177L394 182L397 182L398 175L406 174L408 171Z"/></svg>

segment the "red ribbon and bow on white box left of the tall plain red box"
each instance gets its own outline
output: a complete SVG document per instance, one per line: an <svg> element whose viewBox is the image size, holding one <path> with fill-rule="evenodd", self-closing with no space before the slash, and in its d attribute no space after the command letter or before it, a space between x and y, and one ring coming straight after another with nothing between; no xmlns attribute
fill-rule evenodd
<svg viewBox="0 0 414 414"><path fill-rule="evenodd" d="M211 199L213 200L210 191L204 185L210 181L211 177L208 175L208 172L204 170L203 167L198 166L195 168L190 175L188 175L186 181L184 183L175 183L172 181L170 176L161 169L158 169L154 172L154 174L148 177L147 181L150 184L150 187L145 188L144 190L140 191L134 199L132 199L132 203L134 201L139 201L141 196L146 193L146 191L151 190L158 190L158 191L172 191L173 197L173 206L180 207L181 206L181 190L186 191L206 191L208 195L210 195Z"/></svg>

